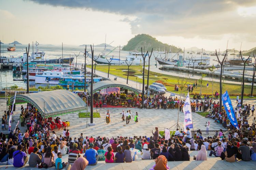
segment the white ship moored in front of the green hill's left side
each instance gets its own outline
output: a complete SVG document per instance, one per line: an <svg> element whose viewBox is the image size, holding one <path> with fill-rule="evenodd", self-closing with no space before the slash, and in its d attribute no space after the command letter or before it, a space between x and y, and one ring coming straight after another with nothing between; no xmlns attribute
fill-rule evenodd
<svg viewBox="0 0 256 170"><path fill-rule="evenodd" d="M148 54L147 54L148 55ZM91 55L89 54L89 57L91 57ZM94 56L94 61L98 64L112 64L112 65L126 65L127 64L131 64L132 65L141 65L143 64L143 58L141 53L139 52L129 52L129 55L126 56L125 60L121 60L119 58L107 58L104 55L100 55L100 57L96 57ZM146 57L145 59L145 64L148 61L148 57Z"/></svg>

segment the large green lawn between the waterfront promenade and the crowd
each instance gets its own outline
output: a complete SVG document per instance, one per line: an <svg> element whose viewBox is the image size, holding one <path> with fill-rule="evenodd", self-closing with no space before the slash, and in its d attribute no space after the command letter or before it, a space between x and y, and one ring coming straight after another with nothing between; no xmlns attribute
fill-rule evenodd
<svg viewBox="0 0 256 170"><path fill-rule="evenodd" d="M106 73L108 72L107 65L97 65L96 69ZM127 69L128 69L127 66L116 66L116 65L110 66L109 73L126 79L127 73L128 73ZM142 66L130 66L129 70L130 70L129 80L138 81L142 83ZM145 69L145 84L146 82L147 82L147 70ZM162 83L163 85L166 86L168 91L174 92L174 86L175 84L178 84L178 77L150 71L149 84L152 84L154 82ZM193 84L195 82L196 82L195 79L188 80L188 84ZM207 83L209 83L208 88L206 87ZM238 94L240 94L241 85L224 83L222 91L225 92L226 90L228 90L230 96L236 97ZM219 92L218 82L213 82L213 91ZM253 95L256 96L256 90L254 91L255 93ZM186 93L186 87L183 89L183 93ZM193 93L190 93L190 95L193 97L194 94L199 94L199 93L200 93L200 85L198 85L197 88L194 88ZM251 94L251 86L245 85L244 98L250 98L249 97L250 94ZM212 82L205 81L205 80L202 81L202 95L212 95Z"/></svg>

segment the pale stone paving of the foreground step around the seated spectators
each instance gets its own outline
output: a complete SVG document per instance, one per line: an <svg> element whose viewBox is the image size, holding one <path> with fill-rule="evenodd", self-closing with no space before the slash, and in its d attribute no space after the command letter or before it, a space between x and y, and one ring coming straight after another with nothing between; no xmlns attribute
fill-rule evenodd
<svg viewBox="0 0 256 170"><path fill-rule="evenodd" d="M242 160L239 160L237 162L229 163L225 160L222 161L219 157L209 157L209 151L208 151L208 160L205 161L196 161L193 160L193 156L197 155L198 151L189 151L190 154L190 161L177 161L177 162L168 162L168 166L171 170L255 170L256 161L249 161L245 162ZM115 153L114 153L115 154ZM84 154L82 154L84 155ZM29 155L28 155L29 156ZM138 156L139 160L133 161L132 163L112 163L112 164L106 164L104 161L98 161L97 165L94 166L87 166L85 169L89 170L148 170L150 169L154 164L154 160L142 160L140 158L140 155ZM68 155L62 156L62 162L68 161ZM0 165L0 169L5 169L6 165ZM7 165L8 169L15 170L17 168L13 167L12 165ZM25 169L25 170L32 170L32 169L38 169L38 168L30 168L28 166L28 163L23 168L19 169ZM48 168L48 169L55 169L54 167Z"/></svg>

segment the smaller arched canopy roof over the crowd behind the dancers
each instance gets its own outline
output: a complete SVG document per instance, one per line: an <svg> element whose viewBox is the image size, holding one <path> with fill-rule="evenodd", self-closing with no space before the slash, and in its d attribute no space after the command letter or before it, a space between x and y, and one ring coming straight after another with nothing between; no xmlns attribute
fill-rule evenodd
<svg viewBox="0 0 256 170"><path fill-rule="evenodd" d="M117 83L117 82L114 82L114 81L110 81L110 80L104 80L104 81L100 81L100 82L97 82L97 83L93 84L93 93L95 93L98 90L101 90L101 89L104 89L104 88L108 88L108 87L123 87L123 88L128 89L130 91L133 91L133 92L135 92L137 94L140 92L138 89L130 87L128 85L120 84L120 83ZM91 89L89 87L88 88L89 93L90 93L90 90Z"/></svg>

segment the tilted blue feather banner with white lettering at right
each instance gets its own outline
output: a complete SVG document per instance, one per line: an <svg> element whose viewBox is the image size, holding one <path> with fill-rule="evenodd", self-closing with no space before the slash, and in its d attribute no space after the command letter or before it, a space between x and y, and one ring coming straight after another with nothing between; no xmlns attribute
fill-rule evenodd
<svg viewBox="0 0 256 170"><path fill-rule="evenodd" d="M234 109L233 109L231 100L230 100L229 95L228 95L228 90L222 95L222 103L223 103L223 106L226 110L226 114L227 114L227 116L230 120L230 123L235 128L239 129L236 114L234 113Z"/></svg>

